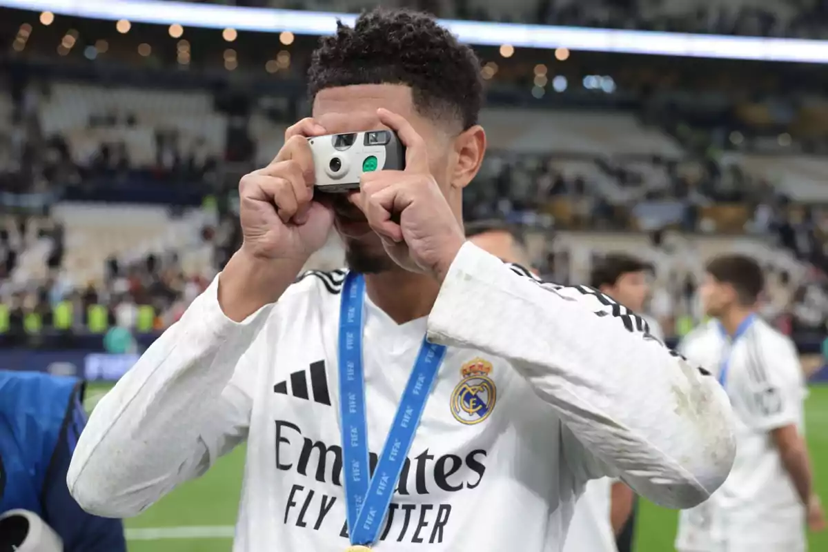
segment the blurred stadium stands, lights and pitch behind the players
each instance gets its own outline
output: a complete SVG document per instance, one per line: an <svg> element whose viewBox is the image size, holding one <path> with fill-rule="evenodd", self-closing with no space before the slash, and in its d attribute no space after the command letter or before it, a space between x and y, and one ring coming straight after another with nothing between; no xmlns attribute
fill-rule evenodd
<svg viewBox="0 0 828 552"><path fill-rule="evenodd" d="M586 281L604 252L647 259L674 343L700 319L706 258L763 263L763 315L811 377L828 498L828 2L402 3L465 21L491 142L465 214L525 228L549 279ZM0 0L0 367L86 377L89 409L237 246L238 178L308 111L320 11L373 5L151 4ZM266 6L301 11L242 9ZM332 241L312 264L340 262ZM229 550L243 459L128 521L130 550ZM645 504L638 552L672 550L675 521Z"/></svg>

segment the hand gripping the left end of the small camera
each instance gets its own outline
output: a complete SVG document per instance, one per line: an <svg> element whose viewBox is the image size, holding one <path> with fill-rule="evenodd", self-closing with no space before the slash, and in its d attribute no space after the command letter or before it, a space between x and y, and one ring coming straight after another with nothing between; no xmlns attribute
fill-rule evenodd
<svg viewBox="0 0 828 552"><path fill-rule="evenodd" d="M302 119L285 132L285 145L270 165L244 175L238 185L242 250L260 259L304 262L327 241L334 216L313 201L314 165L306 137L325 128Z"/></svg>

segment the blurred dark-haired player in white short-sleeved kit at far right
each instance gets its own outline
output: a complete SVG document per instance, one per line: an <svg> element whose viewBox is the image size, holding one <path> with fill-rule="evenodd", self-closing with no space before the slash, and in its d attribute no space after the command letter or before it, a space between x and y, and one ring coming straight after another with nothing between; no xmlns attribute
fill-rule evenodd
<svg viewBox="0 0 828 552"><path fill-rule="evenodd" d="M715 372L737 417L733 471L701 506L681 513L683 552L802 552L805 527L825 525L803 436L805 377L791 340L756 314L763 274L749 257L717 257L700 296L713 319L681 350Z"/></svg>

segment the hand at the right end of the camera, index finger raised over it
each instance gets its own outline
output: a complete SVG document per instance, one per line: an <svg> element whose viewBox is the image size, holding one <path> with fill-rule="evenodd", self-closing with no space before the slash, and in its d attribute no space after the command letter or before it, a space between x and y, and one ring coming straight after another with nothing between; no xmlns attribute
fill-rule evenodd
<svg viewBox="0 0 828 552"><path fill-rule="evenodd" d="M377 113L406 146L406 169L364 173L354 203L394 262L441 282L465 242L463 228L431 175L426 142L405 118Z"/></svg>

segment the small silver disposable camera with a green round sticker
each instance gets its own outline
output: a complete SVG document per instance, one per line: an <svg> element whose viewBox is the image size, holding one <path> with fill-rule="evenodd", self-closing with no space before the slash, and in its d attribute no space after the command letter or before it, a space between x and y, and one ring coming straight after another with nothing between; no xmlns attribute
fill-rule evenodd
<svg viewBox="0 0 828 552"><path fill-rule="evenodd" d="M406 150L396 132L375 130L308 138L315 188L320 192L359 190L359 177L374 170L402 170Z"/></svg>

